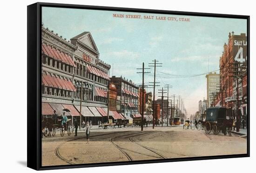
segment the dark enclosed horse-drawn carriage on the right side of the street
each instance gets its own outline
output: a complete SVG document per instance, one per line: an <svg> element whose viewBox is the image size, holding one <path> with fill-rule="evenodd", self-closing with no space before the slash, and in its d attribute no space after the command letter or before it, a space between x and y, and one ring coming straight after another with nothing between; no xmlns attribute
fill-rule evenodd
<svg viewBox="0 0 256 173"><path fill-rule="evenodd" d="M211 131L214 135L222 132L224 135L231 135L233 120L227 119L225 107L212 107L206 110L206 120L204 124L205 134L210 134Z"/></svg>

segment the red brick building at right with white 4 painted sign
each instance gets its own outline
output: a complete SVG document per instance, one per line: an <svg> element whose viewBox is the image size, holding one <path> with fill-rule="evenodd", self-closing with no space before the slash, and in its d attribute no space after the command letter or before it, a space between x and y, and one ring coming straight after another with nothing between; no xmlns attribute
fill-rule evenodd
<svg viewBox="0 0 256 173"><path fill-rule="evenodd" d="M228 44L223 45L222 56L220 57L220 92L216 98L216 102L220 102L222 106L228 108L228 114L236 115L236 74L234 63L241 63L244 69L239 70L238 80L238 96L239 109L242 115L247 115L247 104L242 101L243 96L247 96L247 36L245 33L235 35L229 32ZM243 70L243 71L242 71Z"/></svg>

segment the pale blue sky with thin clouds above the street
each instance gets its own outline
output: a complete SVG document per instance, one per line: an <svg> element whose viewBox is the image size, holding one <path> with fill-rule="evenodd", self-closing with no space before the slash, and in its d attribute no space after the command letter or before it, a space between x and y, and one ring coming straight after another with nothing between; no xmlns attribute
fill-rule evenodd
<svg viewBox="0 0 256 173"><path fill-rule="evenodd" d="M156 19L114 18L117 14L136 14L189 18L190 22ZM171 74L178 78L157 78L161 89L173 86L170 95L180 95L189 114L198 110L198 101L206 98L205 75L180 78L177 75L207 73L219 69L219 57L229 32L246 33L245 19L226 19L152 13L127 13L71 8L42 8L42 22L54 33L70 39L81 32L91 32L100 52L100 59L110 64L115 76L126 77L137 84L141 74L136 68L159 60L162 67L156 74ZM153 69L150 69L153 74ZM218 71L217 71L218 73ZM171 75L167 75L170 77ZM145 75L146 84L153 82ZM150 89L148 89L150 91Z"/></svg>

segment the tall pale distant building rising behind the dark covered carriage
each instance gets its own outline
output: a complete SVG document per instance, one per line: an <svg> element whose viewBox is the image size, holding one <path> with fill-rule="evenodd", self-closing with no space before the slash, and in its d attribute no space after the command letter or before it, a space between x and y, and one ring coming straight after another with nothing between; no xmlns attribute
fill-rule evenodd
<svg viewBox="0 0 256 173"><path fill-rule="evenodd" d="M220 74L216 72L206 75L207 78L207 100L208 107L215 106L217 103L214 103L217 93L219 92L220 86Z"/></svg>

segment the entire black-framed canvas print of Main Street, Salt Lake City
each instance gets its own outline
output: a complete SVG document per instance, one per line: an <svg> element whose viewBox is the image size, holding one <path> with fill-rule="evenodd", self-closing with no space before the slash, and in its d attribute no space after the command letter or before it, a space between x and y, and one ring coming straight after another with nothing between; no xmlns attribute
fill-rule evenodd
<svg viewBox="0 0 256 173"><path fill-rule="evenodd" d="M249 16L27 6L27 166L249 156Z"/></svg>

